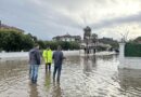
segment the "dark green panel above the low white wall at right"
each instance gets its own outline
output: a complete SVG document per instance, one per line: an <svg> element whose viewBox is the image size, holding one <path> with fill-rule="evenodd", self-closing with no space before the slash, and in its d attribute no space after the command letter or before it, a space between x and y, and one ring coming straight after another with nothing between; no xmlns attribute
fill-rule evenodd
<svg viewBox="0 0 141 97"><path fill-rule="evenodd" d="M126 43L125 56L141 57L141 44Z"/></svg>

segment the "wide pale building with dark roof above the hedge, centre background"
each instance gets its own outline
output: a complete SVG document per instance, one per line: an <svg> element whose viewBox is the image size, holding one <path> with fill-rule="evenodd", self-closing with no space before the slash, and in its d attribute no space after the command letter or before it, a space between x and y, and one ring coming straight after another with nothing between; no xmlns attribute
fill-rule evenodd
<svg viewBox="0 0 141 97"><path fill-rule="evenodd" d="M76 42L80 42L81 37L80 36L70 36L68 33L64 34L64 36L56 36L54 38L52 38L53 41L76 41Z"/></svg>

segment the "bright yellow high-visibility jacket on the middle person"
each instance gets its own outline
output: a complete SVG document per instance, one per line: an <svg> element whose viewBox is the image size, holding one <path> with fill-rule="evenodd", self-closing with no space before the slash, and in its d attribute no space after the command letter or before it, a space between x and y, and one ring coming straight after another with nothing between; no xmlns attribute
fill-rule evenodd
<svg viewBox="0 0 141 97"><path fill-rule="evenodd" d="M44 58L46 64L48 64L48 63L52 64L52 51L51 50L44 50L42 53L42 56Z"/></svg>

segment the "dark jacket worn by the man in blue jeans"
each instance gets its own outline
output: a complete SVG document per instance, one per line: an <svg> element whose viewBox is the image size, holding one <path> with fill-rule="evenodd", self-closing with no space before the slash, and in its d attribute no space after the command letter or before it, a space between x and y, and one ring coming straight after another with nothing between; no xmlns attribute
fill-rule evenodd
<svg viewBox="0 0 141 97"><path fill-rule="evenodd" d="M38 48L33 48L29 51L29 64L40 65L40 52Z"/></svg>

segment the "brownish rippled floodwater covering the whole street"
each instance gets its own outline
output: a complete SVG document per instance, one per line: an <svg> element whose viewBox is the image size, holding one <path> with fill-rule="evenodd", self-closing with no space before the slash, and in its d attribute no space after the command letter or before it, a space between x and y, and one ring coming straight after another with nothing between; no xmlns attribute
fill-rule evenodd
<svg viewBox="0 0 141 97"><path fill-rule="evenodd" d="M39 68L37 84L28 77L28 60L0 59L0 97L141 97L141 70L118 69L117 55L67 56L61 83Z"/></svg>

